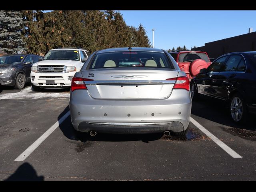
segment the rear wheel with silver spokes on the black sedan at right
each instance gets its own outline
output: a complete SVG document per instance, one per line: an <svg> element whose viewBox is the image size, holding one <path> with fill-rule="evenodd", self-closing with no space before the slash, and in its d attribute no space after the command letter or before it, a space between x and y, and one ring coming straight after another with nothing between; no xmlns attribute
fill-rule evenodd
<svg viewBox="0 0 256 192"><path fill-rule="evenodd" d="M248 111L246 102L241 94L234 94L229 100L229 112L231 119L236 123L246 122Z"/></svg>

